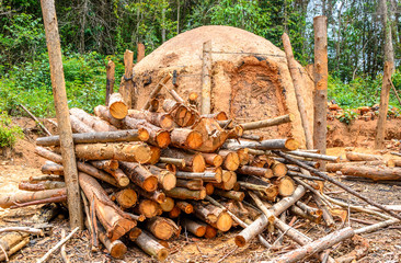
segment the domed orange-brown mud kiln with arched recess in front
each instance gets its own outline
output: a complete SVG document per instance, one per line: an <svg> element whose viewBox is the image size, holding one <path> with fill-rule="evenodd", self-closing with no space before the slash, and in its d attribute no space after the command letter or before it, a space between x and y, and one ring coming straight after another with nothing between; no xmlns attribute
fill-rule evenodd
<svg viewBox="0 0 401 263"><path fill-rule="evenodd" d="M167 73L176 70L177 93L186 100L200 94L203 43L211 39L211 112L225 111L239 123L271 118L287 113L295 122L259 132L266 138L293 136L305 144L300 115L285 53L270 41L230 26L202 26L165 42L134 67L135 107L140 108L150 91ZM312 126L310 75L299 66L302 96ZM172 83L168 85L172 88ZM167 98L164 92L160 98ZM257 134L257 133L256 133Z"/></svg>

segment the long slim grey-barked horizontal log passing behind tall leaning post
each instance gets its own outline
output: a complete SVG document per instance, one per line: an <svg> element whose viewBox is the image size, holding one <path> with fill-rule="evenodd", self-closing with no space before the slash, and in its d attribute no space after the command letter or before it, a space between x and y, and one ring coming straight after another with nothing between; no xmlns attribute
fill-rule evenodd
<svg viewBox="0 0 401 263"><path fill-rule="evenodd" d="M146 129L129 129L116 132L94 132L73 134L75 144L99 144L117 141L147 141L149 134ZM36 139L37 146L59 146L59 136L41 137Z"/></svg>

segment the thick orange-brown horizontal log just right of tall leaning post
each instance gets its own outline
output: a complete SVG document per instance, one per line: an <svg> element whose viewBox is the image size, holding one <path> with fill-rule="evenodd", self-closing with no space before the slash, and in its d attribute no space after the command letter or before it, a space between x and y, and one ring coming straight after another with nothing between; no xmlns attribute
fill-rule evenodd
<svg viewBox="0 0 401 263"><path fill-rule="evenodd" d="M139 141L77 145L76 155L85 160L115 159L140 163L146 163L151 158L149 146Z"/></svg>

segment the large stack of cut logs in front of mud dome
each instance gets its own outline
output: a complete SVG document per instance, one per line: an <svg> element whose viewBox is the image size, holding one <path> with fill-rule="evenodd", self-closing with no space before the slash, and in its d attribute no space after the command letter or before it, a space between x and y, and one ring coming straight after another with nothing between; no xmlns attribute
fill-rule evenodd
<svg viewBox="0 0 401 263"><path fill-rule="evenodd" d="M130 240L162 261L169 254L165 240L181 231L210 239L218 231L242 227L237 245L257 238L266 248L275 247L279 241L271 244L262 233L278 229L278 236L301 245L289 252L295 254L284 254L293 260L285 262L297 262L311 251L325 259L322 250L354 235L344 228L313 241L291 228L294 220L286 224L286 216L293 215L334 225L329 201L321 194L321 182L329 179L317 168L322 160L339 162L337 157L297 150L295 139L263 139L249 132L289 123L291 115L237 124L222 112L199 115L196 94L185 103L170 92L175 100L162 102L152 92L142 110L128 110L118 93L111 95L108 106L96 106L95 116L70 110L93 250L101 241L119 259ZM36 142L36 153L49 160L42 168L44 175L21 182L21 190L32 192L0 198L1 207L67 201L59 137Z"/></svg>

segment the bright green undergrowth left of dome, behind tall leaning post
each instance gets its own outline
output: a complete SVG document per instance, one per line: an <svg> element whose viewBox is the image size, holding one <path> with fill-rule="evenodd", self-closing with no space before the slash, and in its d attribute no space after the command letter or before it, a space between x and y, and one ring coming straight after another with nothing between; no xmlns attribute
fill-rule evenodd
<svg viewBox="0 0 401 263"><path fill-rule="evenodd" d="M18 107L23 104L36 116L55 116L53 90L47 54L38 56L34 62L24 62L0 78L0 108L9 114L20 115ZM87 55L66 54L64 71L68 105L93 112L93 107L104 104L106 73L105 65L112 58L116 64L116 79L124 72L122 58L105 57L98 53ZM115 91L117 91L117 83Z"/></svg>

